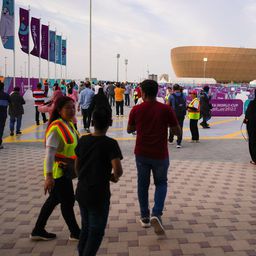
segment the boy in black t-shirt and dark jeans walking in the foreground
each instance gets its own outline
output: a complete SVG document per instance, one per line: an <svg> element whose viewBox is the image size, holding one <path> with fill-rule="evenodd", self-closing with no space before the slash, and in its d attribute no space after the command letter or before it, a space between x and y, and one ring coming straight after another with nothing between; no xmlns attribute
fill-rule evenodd
<svg viewBox="0 0 256 256"><path fill-rule="evenodd" d="M96 255L108 219L109 181L118 182L123 173L120 161L123 157L118 143L106 136L111 122L110 111L96 108L93 112L94 133L81 137L75 150L76 199L82 220L79 256Z"/></svg>

